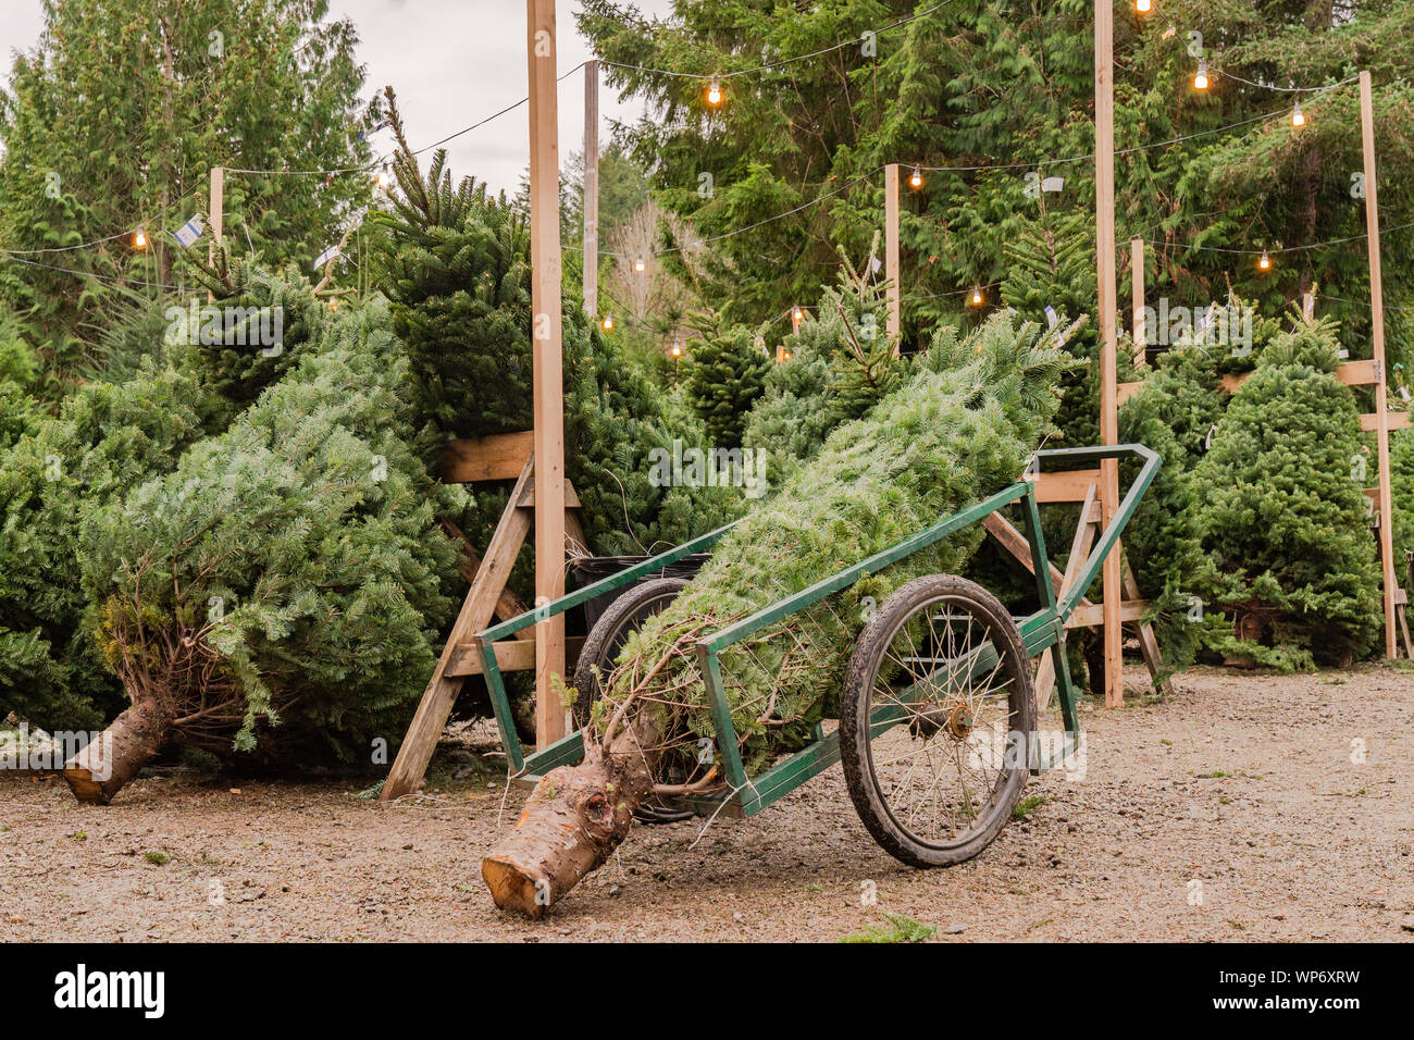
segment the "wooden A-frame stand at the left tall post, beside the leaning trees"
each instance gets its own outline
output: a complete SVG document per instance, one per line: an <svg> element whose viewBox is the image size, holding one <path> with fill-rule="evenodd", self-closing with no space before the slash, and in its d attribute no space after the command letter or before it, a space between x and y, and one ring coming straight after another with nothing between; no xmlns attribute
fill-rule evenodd
<svg viewBox="0 0 1414 1040"><path fill-rule="evenodd" d="M443 480L447 483L472 483L484 480L508 478L508 466L513 460L523 457L516 485L510 491L501 522L491 536L486 553L479 560L471 546L465 546L471 559L468 570L471 589L457 614L457 623L447 637L437 668L423 691L423 699L417 705L417 715L413 716L407 727L407 736L397 750L393 768L383 782L382 801L392 801L404 794L414 792L423 784L427 764L433 751L437 750L437 740L441 737L447 719L451 715L452 703L461 689L462 681L468 675L481 675L481 654L471 642L471 637L491 625L492 617L505 621L526 611L525 603L509 589L506 579L515 566L520 548L530 533L534 518L534 454L529 447L529 434L505 434L502 437L486 437L482 441L454 441L448 453L448 464L444 468ZM580 499L574 488L566 483L564 488L564 531L570 545L587 546L584 529L580 525ZM460 535L455 532L454 535ZM464 572L465 573L465 572ZM566 657L573 666L575 654L583 640L566 640ZM503 672L530 671L536 666L534 628L523 628L513 640L493 644L496 664Z"/></svg>

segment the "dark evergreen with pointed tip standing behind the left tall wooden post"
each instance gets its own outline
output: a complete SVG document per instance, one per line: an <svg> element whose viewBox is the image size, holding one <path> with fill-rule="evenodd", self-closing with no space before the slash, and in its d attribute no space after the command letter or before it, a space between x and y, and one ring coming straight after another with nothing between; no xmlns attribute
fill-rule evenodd
<svg viewBox="0 0 1414 1040"><path fill-rule="evenodd" d="M400 151L378 280L407 344L420 415L444 439L529 430L532 413L529 226L505 200L465 178L452 187L445 153L423 177L386 95ZM735 515L730 488L659 487L650 453L703 441L687 413L665 408L645 372L571 299L563 307L566 474L583 505L591 550L643 552ZM428 457L428 463L431 463ZM508 490L478 487L462 531L485 545ZM529 552L512 582L527 589Z"/></svg>

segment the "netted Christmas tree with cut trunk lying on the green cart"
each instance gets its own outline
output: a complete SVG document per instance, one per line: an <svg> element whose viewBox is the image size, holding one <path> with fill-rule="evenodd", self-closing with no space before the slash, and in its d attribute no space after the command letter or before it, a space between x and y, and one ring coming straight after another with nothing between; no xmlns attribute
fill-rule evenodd
<svg viewBox="0 0 1414 1040"><path fill-rule="evenodd" d="M550 771L516 829L482 860L496 903L539 915L624 840L633 809L665 777L699 785L711 737L694 644L916 533L1017 480L1051 430L1065 337L994 316L966 340L950 331L895 392L843 423L781 491L718 545L683 594L629 640L604 683L584 761ZM822 600L775 640L723 655L742 757L800 747L834 702L864 625L860 601L928 573L957 573L983 532L973 528Z"/></svg>

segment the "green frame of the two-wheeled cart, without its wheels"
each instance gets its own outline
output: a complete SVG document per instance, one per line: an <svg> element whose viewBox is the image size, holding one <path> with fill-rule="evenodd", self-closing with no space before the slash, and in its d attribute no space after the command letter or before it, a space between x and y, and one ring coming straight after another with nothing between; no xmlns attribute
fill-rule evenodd
<svg viewBox="0 0 1414 1040"><path fill-rule="evenodd" d="M785 600L773 603L749 617L741 618L740 621L735 621L734 624L730 624L713 632L708 638L700 641L696 651L700 658L701 675L707 686L711 716L717 730L715 747L721 756L724 784L721 784L720 790L707 790L691 795L674 795L669 798L667 802L673 808L687 809L699 815L715 815L725 812L727 815L752 816L771 805L771 802L793 791L810 777L840 761L840 732L836 730L826 734L823 727L817 724L816 740L812 744L775 763L759 775L748 775L742 765L737 730L731 720L731 706L727 700L723 685L720 665L721 652L727 647L740 642L741 640L788 617L789 614L800 611L826 599L827 596L833 596L834 593L848 589L861 577L884 570L912 553L933 545L939 539L943 539L970 524L976 524L988 514L1012 504L1019 504L1022 509L1025 535L1031 546L1031 570L1036 579L1036 594L1041 603L1041 610L1028 617L1012 618L1012 623L1019 631L1028 659L1048 649L1053 655L1056 693L1065 724L1065 739L1060 741L1062 747L1059 749L1059 753L1049 761L1035 763L1032 768L1051 768L1063 761L1076 747L1080 729L1076 715L1075 688L1072 685L1070 671L1066 665L1066 657L1062 645L1066 620L1085 597L1086 590L1100 573L1104 557L1116 548L1124 526L1134 516L1140 499L1154 481L1159 467L1159 457L1143 444L1118 444L1113 447L1042 450L1035 454L1035 461L1032 464L1035 471L1039 471L1041 467L1051 464L1058 464L1060 467L1069 467L1072 464L1085 466L1111 458L1137 458L1143 461L1143 466L1128 487L1124 498L1120 501L1116 515L1102 532L1089 557L1086 559L1077 580L1065 591L1063 596L1059 597L1059 600L1051 583L1051 563L1046 555L1045 538L1041 532L1041 512L1036 502L1035 487L1031 481L1019 480L997 494L977 502L976 505L933 524L912 538L905 539L884 552L875 553L874 556L870 556L868 559L850 567L846 567L823 582L817 582L816 584L803 589ZM526 756L520 740L516 736L515 723L512 720L510 700L506 696L505 681L496 664L493 644L523 628L534 625L539 621L546 621L556 614L563 614L564 611L592 600L597 596L626 586L641 577L653 574L655 572L662 570L663 566L674 563L690 553L701 552L715 543L732 526L735 525L730 524L718 528L717 531L701 535L700 538L694 538L690 542L684 542L674 549L643 560L636 566L628 567L626 570L595 582L594 584L585 586L584 589L570 593L568 596L563 596L549 604L526 611L525 614L513 617L498 625L492 625L474 637L474 642L477 644L484 661L485 678L491 691L491 702L495 710L496 724L499 727L501 740L505 746L506 758L509 760L510 773L515 780L533 784L553 768L577 764L584 754L583 730L575 730L563 740ZM884 710L887 709L875 709L877 713ZM884 719L882 724L891 726L904 720L902 713L895 715L896 717ZM875 724L874 720L882 716L875 715L871 719L871 724Z"/></svg>

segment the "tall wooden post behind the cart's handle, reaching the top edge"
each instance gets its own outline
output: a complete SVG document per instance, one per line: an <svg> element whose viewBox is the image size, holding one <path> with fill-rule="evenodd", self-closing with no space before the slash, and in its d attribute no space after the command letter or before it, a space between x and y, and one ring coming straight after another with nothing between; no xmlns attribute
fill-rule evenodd
<svg viewBox="0 0 1414 1040"><path fill-rule="evenodd" d="M1100 308L1100 440L1118 443L1114 328L1114 0L1094 0L1094 265ZM1118 463L1100 464L1100 508L1109 525L1120 499ZM1104 557L1104 706L1124 703L1123 631L1120 628L1120 552Z"/></svg>

